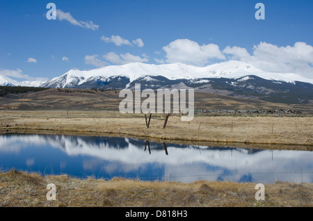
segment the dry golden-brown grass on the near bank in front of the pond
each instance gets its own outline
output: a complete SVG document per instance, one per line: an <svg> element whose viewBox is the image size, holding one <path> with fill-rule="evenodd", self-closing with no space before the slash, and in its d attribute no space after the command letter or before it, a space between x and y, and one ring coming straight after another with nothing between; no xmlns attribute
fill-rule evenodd
<svg viewBox="0 0 313 221"><path fill-rule="evenodd" d="M47 200L47 184L56 185L56 200ZM113 178L74 179L10 170L0 173L0 206L313 206L313 186L265 184L265 200L255 199L256 183L195 181L193 183Z"/></svg>

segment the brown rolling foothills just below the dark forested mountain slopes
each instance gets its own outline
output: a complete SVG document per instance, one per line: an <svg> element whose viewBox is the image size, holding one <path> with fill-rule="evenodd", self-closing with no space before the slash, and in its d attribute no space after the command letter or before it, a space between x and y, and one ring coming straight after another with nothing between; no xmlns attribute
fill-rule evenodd
<svg viewBox="0 0 313 221"><path fill-rule="evenodd" d="M27 94L0 97L0 110L65 110L65 111L118 111L119 91L95 91L86 89L49 89ZM297 109L313 112L312 104L278 104L257 99L243 99L209 92L195 92L195 108L198 109Z"/></svg>

